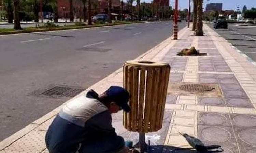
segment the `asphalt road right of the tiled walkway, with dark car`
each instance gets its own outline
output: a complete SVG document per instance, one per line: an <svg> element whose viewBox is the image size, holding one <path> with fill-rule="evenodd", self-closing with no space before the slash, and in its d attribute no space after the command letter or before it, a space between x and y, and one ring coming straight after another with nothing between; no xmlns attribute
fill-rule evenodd
<svg viewBox="0 0 256 153"><path fill-rule="evenodd" d="M208 24L213 28L213 24ZM229 43L256 61L256 25L228 24L228 29L214 29Z"/></svg>

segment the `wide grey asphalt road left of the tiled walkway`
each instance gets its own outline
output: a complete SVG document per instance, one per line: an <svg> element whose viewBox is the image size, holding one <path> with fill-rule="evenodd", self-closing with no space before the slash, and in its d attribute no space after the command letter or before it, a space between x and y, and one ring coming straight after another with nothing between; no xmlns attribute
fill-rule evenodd
<svg viewBox="0 0 256 153"><path fill-rule="evenodd" d="M44 96L43 91L57 85L88 88L171 36L172 24L0 36L0 140L70 99Z"/></svg>

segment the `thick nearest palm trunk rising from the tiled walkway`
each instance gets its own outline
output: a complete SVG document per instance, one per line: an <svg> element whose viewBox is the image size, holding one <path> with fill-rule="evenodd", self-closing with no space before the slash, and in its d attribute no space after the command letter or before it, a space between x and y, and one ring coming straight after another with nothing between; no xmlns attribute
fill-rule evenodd
<svg viewBox="0 0 256 153"><path fill-rule="evenodd" d="M203 36L203 0L197 1L197 24L195 35Z"/></svg>

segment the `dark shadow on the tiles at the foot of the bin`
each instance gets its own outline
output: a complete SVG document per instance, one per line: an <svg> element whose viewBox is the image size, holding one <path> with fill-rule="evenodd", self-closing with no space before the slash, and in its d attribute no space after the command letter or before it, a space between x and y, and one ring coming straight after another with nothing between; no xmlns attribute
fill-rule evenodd
<svg viewBox="0 0 256 153"><path fill-rule="evenodd" d="M181 148L181 147L166 146L166 145L152 145L149 147L147 153L216 153L216 152L217 152L216 150L198 152L190 148Z"/></svg>

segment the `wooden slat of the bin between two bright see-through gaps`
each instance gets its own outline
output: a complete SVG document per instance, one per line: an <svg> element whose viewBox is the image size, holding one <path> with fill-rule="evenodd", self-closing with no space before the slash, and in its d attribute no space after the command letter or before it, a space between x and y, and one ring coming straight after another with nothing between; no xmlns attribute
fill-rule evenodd
<svg viewBox="0 0 256 153"><path fill-rule="evenodd" d="M145 98L145 74L146 71L144 68L141 68L140 70L140 88L139 88L139 125L138 125L138 132L143 132L142 129L144 129L144 120L143 120L143 114L144 114L144 98Z"/></svg>

